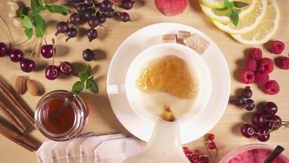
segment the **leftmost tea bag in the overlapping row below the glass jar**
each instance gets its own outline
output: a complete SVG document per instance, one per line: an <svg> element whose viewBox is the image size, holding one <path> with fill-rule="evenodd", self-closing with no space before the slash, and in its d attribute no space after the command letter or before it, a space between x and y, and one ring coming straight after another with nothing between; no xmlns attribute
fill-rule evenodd
<svg viewBox="0 0 289 163"><path fill-rule="evenodd" d="M52 163L49 151L56 141L46 141L36 151L38 163Z"/></svg>

